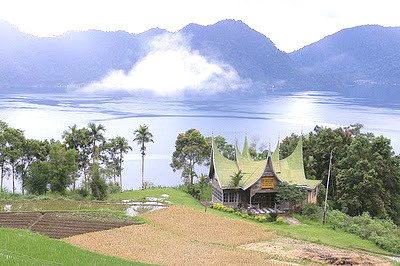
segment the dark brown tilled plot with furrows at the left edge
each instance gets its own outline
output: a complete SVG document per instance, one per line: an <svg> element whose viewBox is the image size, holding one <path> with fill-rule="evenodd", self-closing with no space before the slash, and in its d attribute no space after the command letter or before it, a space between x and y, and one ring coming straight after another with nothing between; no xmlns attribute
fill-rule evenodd
<svg viewBox="0 0 400 266"><path fill-rule="evenodd" d="M30 229L48 237L64 238L133 224L132 221L101 221L94 217L88 219L89 216L68 213L1 213L0 227Z"/></svg>

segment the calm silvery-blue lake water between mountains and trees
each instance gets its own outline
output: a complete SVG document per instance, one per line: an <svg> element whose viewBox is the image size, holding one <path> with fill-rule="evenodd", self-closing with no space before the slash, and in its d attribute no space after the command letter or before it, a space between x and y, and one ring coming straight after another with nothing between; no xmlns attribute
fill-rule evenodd
<svg viewBox="0 0 400 266"><path fill-rule="evenodd" d="M77 124L101 123L106 137L123 136L134 150L126 156L124 189L140 186L139 147L133 131L147 124L154 135L148 145L145 177L157 185L181 183L169 164L176 136L190 128L228 141L247 136L275 147L278 138L309 132L315 125L329 127L364 124L366 131L384 135L400 152L400 101L333 92L271 92L259 97L226 96L195 99L73 94L0 94L0 120L25 131L28 138L60 139ZM206 169L199 169L199 172ZM8 187L10 180L6 181Z"/></svg>

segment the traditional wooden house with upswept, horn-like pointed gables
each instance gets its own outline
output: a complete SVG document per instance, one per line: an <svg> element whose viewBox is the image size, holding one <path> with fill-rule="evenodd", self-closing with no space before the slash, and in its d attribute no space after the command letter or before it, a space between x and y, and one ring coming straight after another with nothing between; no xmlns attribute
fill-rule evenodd
<svg viewBox="0 0 400 266"><path fill-rule="evenodd" d="M232 184L232 175L241 170L243 177L237 187ZM307 202L316 203L319 180L306 179L303 165L303 142L300 138L295 150L284 159L279 158L279 143L274 153L265 160L255 161L245 140L243 151L236 144L236 160L225 158L214 141L209 177L212 181L212 202L229 207L279 208L276 193L280 182L307 189Z"/></svg>

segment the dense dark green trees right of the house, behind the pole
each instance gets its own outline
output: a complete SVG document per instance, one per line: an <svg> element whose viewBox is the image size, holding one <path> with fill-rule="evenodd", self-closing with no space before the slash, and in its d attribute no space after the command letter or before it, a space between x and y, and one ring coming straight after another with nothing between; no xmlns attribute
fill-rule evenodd
<svg viewBox="0 0 400 266"><path fill-rule="evenodd" d="M303 136L306 176L321 179L326 186L330 152L333 151L329 186L330 207L349 215L369 212L400 224L400 159L390 140L362 133L362 125L344 128L315 127ZM281 158L295 148L299 136L292 134L280 145ZM319 193L322 203L325 187ZM368 196L366 196L368 195Z"/></svg>

